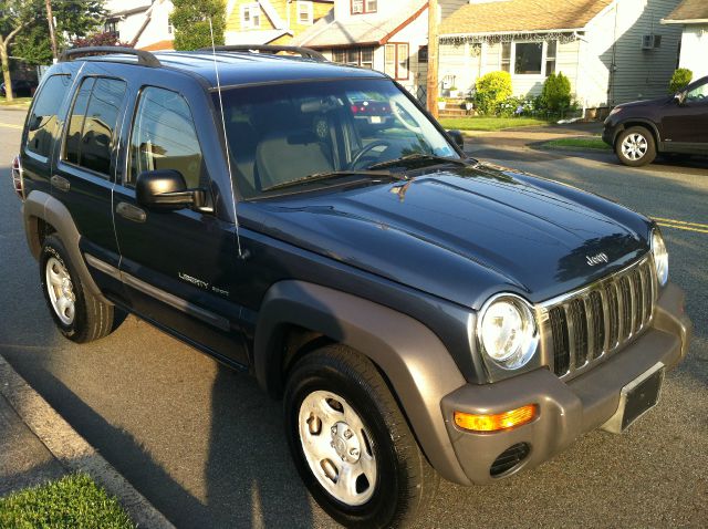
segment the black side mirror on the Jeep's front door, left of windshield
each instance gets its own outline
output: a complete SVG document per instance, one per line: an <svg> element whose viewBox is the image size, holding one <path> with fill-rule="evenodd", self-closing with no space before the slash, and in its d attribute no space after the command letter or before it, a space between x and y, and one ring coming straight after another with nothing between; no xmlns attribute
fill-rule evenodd
<svg viewBox="0 0 708 529"><path fill-rule="evenodd" d="M175 169L140 173L135 183L135 197L140 206L164 211L200 208L205 204L205 191L187 189L185 177Z"/></svg>

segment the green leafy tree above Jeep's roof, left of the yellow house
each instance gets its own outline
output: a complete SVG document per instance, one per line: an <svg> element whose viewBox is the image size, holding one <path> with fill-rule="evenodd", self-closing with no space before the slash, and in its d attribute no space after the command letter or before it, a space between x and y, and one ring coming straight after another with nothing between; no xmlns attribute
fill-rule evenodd
<svg viewBox="0 0 708 529"><path fill-rule="evenodd" d="M173 0L173 6L169 22L175 28L175 50L210 46L209 19L214 27L214 43L223 44L225 0Z"/></svg>

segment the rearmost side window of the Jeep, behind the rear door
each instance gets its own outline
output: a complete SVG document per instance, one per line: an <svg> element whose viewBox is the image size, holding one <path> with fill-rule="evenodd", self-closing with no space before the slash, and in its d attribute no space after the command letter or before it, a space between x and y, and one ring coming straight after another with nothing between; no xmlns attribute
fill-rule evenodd
<svg viewBox="0 0 708 529"><path fill-rule="evenodd" d="M25 151L49 157L56 128L56 113L70 86L69 75L52 75L44 82L28 121Z"/></svg>

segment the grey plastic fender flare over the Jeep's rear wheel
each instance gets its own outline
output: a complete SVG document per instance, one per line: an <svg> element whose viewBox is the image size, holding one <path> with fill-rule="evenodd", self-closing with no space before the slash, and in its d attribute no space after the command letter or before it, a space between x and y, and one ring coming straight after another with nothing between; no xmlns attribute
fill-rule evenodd
<svg viewBox="0 0 708 529"><path fill-rule="evenodd" d="M104 303L113 304L103 295L86 267L81 250L79 249L81 235L66 206L51 195L35 189L29 194L22 205L22 217L24 220L27 243L34 259L39 259L42 250L39 237L39 224L37 221L37 219L42 219L54 227L60 239L64 242L71 262L79 272L81 283Z"/></svg>

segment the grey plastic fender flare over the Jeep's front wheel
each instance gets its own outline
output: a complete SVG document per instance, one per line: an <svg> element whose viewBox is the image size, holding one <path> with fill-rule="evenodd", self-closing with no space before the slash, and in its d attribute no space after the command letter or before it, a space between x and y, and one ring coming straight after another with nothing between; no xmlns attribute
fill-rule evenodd
<svg viewBox="0 0 708 529"><path fill-rule="evenodd" d="M442 397L466 381L427 326L345 292L303 281L278 282L263 299L253 346L256 376L273 396L284 385L283 334L290 324L321 332L374 362L389 381L433 467L448 480L470 484L455 455L440 407Z"/></svg>

